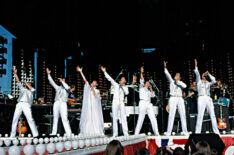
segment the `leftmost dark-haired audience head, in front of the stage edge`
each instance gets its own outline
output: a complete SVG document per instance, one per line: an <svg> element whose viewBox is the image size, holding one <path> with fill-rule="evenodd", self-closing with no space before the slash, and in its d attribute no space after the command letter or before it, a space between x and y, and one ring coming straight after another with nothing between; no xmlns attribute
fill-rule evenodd
<svg viewBox="0 0 234 155"><path fill-rule="evenodd" d="M106 146L104 155L124 155L124 148L118 140L112 140Z"/></svg>

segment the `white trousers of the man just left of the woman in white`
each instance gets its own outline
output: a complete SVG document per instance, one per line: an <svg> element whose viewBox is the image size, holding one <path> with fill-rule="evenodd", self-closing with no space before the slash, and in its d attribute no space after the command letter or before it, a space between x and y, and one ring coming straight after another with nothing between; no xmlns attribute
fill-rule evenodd
<svg viewBox="0 0 234 155"><path fill-rule="evenodd" d="M60 114L65 132L66 132L67 136L70 136L71 135L71 128L70 128L69 121L67 118L67 103L61 102L61 101L56 101L54 103L53 113L54 113L54 120L53 120L52 135L57 134L58 119L59 119L59 114Z"/></svg>

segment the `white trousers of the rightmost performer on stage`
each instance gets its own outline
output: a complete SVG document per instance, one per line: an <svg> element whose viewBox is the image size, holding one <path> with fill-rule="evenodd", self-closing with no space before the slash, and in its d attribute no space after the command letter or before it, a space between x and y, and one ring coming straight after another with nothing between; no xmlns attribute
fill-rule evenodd
<svg viewBox="0 0 234 155"><path fill-rule="evenodd" d="M213 131L214 133L219 134L219 129L217 126L212 99L209 96L199 96L197 107L198 107L198 115L197 115L196 133L201 133L203 116L207 108L208 113L210 114Z"/></svg>

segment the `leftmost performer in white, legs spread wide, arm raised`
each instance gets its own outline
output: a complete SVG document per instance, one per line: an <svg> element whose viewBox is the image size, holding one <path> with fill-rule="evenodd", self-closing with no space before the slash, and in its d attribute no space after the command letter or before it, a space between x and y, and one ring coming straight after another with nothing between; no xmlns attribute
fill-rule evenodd
<svg viewBox="0 0 234 155"><path fill-rule="evenodd" d="M15 137L17 123L18 123L19 117L22 114L22 112L24 113L24 115L28 121L28 124L29 124L31 131L32 131L32 134L33 134L33 137L37 137L38 131L37 131L35 122L33 120L32 110L31 110L31 105L33 103L33 93L34 93L35 89L31 86L31 83L27 83L27 82L25 82L25 85L27 86L27 88L24 88L22 86L22 84L19 80L19 77L17 75L17 69L15 69L14 67L13 67L13 73L15 75L17 85L19 86L19 89L20 89L20 96L17 100L18 103L16 104L15 113L13 116L11 137Z"/></svg>

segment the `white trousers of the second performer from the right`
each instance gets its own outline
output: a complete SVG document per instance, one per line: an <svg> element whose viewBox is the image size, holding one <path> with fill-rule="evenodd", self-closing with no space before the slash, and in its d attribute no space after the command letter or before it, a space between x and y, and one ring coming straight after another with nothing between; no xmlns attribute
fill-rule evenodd
<svg viewBox="0 0 234 155"><path fill-rule="evenodd" d="M180 120L181 120L183 133L188 134L186 116L185 116L184 99L182 97L170 97L167 135L171 135L177 107L178 107L179 114L180 114Z"/></svg>

